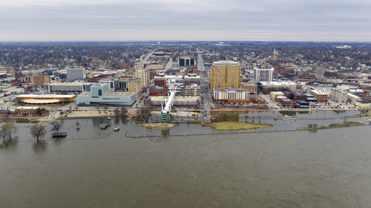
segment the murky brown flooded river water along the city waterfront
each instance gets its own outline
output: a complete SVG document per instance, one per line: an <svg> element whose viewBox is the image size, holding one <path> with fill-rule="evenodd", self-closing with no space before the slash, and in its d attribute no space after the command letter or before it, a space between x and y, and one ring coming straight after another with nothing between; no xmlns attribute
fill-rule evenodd
<svg viewBox="0 0 371 208"><path fill-rule="evenodd" d="M231 114L226 118L236 119ZM248 114L237 114L238 120L274 126L218 134L180 123L158 142L160 131L138 123L113 119L99 130L106 119L69 119L61 130L65 139L51 140L49 132L36 143L30 124L17 123L17 142L0 148L0 207L371 205L370 125L265 132L361 121L354 112L275 120L272 112ZM116 125L121 130L112 132Z"/></svg>

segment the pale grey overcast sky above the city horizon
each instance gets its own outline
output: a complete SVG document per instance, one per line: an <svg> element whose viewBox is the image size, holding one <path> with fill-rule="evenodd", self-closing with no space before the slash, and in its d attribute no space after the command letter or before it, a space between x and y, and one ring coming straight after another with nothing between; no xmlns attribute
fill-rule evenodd
<svg viewBox="0 0 371 208"><path fill-rule="evenodd" d="M370 0L0 0L0 41L371 42Z"/></svg>

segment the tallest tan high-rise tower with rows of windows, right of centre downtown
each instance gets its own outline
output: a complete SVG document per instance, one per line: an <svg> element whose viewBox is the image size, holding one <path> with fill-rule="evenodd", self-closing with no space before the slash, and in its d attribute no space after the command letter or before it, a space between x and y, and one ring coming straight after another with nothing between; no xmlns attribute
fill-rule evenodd
<svg viewBox="0 0 371 208"><path fill-rule="evenodd" d="M238 62L214 62L209 76L210 88L240 88L240 71Z"/></svg>

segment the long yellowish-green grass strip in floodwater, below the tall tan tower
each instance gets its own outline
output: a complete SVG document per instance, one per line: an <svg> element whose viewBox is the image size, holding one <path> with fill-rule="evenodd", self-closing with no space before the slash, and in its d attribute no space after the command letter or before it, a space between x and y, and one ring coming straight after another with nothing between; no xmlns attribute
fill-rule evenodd
<svg viewBox="0 0 371 208"><path fill-rule="evenodd" d="M272 124L265 123L247 123L242 121L236 122L215 122L215 123L202 123L202 126L208 126L214 130L249 130L256 128L272 127Z"/></svg>

